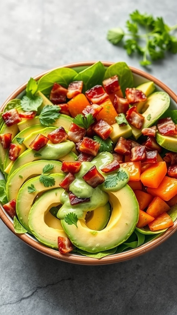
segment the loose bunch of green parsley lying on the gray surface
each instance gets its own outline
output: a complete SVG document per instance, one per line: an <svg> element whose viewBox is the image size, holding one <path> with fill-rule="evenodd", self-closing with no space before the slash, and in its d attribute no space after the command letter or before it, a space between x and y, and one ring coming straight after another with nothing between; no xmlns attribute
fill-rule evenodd
<svg viewBox="0 0 177 315"><path fill-rule="evenodd" d="M152 60L164 58L165 51L177 53L177 37L170 34L177 29L177 25L170 27L162 17L154 18L150 14L141 14L138 10L129 14L129 17L126 21L128 33L120 27L112 28L107 33L107 39L117 45L124 37L129 37L124 40L123 47L128 55L136 52L143 56L141 66L151 65Z"/></svg>

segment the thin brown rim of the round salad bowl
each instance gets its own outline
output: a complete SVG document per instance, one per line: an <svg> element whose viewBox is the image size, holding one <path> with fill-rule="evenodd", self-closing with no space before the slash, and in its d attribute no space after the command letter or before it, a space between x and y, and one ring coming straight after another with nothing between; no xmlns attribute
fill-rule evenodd
<svg viewBox="0 0 177 315"><path fill-rule="evenodd" d="M72 67L77 67L77 66L91 66L97 61L80 61L80 62L73 62L69 64L65 64L62 66L58 66L52 69L49 69L47 71L44 71L37 76L34 77L35 80L38 80L40 77L42 77L44 74L47 74L50 71L53 71L58 68L72 68ZM101 61L104 66L111 66L115 62L109 62L109 61ZM163 89L165 92L168 93L170 98L177 104L177 95L170 89L168 88L167 85L165 85L163 82L158 80L156 77L152 76L149 73L146 73L140 69L134 68L129 66L132 72L136 75L139 75L140 77L144 77L146 80L153 81L159 88ZM16 98L25 88L26 88L26 83L23 83L18 87L17 89L14 90L14 92L4 101L3 105L0 107L0 110L2 110L6 104ZM64 261L64 262L69 262L69 263L74 263L74 264L79 264L79 265L107 265L107 264L113 264L117 262L122 262L122 261L127 261L129 259L138 257L140 255L145 254L146 252L149 252L152 249L155 249L157 246L162 244L164 241L166 241L176 230L177 230L177 220L174 222L174 226L169 227L165 232L160 234L157 238L153 239L152 241L145 243L141 245L140 247L137 247L135 249L130 249L126 252L122 253L117 253L117 254L111 254L108 256L105 256L101 259L97 258L92 258L92 257L87 257L87 256L81 256L77 254L61 254L59 251L46 247L42 243L39 243L35 239L31 238L30 235L28 234L17 234L14 231L14 226L12 223L12 219L9 217L8 214L6 214L5 210L3 209L3 206L0 204L0 218L3 221L3 223L9 228L11 232L14 233L18 238L20 238L24 243L26 243L28 246L31 248L37 250L38 252L49 256L51 258L54 258L59 261Z"/></svg>

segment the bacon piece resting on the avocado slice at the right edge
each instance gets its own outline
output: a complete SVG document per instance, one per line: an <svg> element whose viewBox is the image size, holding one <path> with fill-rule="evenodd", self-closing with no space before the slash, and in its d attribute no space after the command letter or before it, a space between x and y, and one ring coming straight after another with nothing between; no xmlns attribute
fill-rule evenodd
<svg viewBox="0 0 177 315"><path fill-rule="evenodd" d="M157 129L161 135L165 136L177 135L176 125L174 124L171 117L159 119L157 123Z"/></svg>

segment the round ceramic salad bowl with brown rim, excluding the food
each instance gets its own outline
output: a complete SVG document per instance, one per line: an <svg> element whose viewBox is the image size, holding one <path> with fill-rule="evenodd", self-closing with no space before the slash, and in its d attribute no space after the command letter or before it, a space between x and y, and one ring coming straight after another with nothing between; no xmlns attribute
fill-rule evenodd
<svg viewBox="0 0 177 315"><path fill-rule="evenodd" d="M51 69L49 71L46 71L37 75L36 77L34 77L34 80L39 82L41 77L45 76L51 71L54 71L55 69L70 68L70 69L74 69L76 72L81 72L85 68L90 67L94 65L95 63L96 61L86 61L86 62L77 62L77 63L63 65L58 68L54 68L54 69ZM113 65L113 63L111 62L102 62L102 64L104 65L105 69ZM134 87L137 87L140 84L143 84L149 81L154 82L156 91L162 91L169 95L170 109L172 110L177 109L177 96L164 83L162 83L157 78L151 76L150 74L146 72L143 72L139 69L135 69L133 67L129 67L129 68L133 75ZM7 106L7 104L11 100L21 99L25 95L26 86L27 86L27 82L21 85L18 89L16 89L3 103L3 105L0 108L0 111L2 112L3 109ZM1 174L1 179L4 179L3 174ZM53 248L50 248L49 246L44 245L43 243L38 241L37 238L35 238L31 233L28 233L28 232L16 233L14 230L13 219L4 210L2 204L0 204L0 218L3 221L3 223L9 228L9 230L15 234L15 236L20 238L23 242L25 242L31 248L39 251L40 253L44 255L52 257L54 259L69 262L69 263L74 263L74 264L81 264L81 265L106 265L106 264L113 264L113 263L132 259L134 257L145 254L151 249L155 249L158 245L162 244L177 230L177 220L174 220L173 226L170 226L166 230L159 232L158 234L154 235L154 237L149 237L149 239L146 242L144 243L142 242L142 244L138 247L136 246L135 248L128 247L127 249L125 248L125 250L123 251L115 252L114 254L110 254L110 255L105 255L101 258L95 258L94 255L93 257L92 255L89 255L89 256L81 255L80 253L77 253L75 251L63 254L63 253L60 253L56 249L53 249Z"/></svg>

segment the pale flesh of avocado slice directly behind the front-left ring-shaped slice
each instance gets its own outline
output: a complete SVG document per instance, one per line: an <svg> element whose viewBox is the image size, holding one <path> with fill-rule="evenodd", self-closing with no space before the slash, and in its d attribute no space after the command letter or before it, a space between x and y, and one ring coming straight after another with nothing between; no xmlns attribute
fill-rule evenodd
<svg viewBox="0 0 177 315"><path fill-rule="evenodd" d="M28 224L28 215L36 197L44 191L53 188L60 188L60 182L64 179L65 175L52 174L51 177L53 177L55 180L55 184L52 187L45 187L43 183L39 181L40 176L36 176L27 180L26 183L21 186L18 192L16 199L16 213L22 226L24 226L29 232L30 227ZM31 187L31 184L34 185L36 191L29 193L28 187Z"/></svg>

